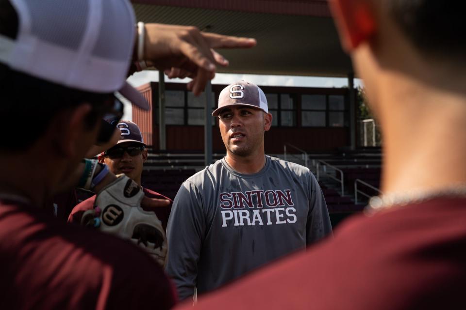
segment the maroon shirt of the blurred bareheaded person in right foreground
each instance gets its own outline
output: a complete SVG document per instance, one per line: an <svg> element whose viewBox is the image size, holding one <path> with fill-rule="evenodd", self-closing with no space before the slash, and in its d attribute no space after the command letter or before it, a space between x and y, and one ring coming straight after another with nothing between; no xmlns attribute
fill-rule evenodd
<svg viewBox="0 0 466 310"><path fill-rule="evenodd" d="M201 296L197 307L466 309L465 288L466 199L442 198L351 218L332 240Z"/></svg>

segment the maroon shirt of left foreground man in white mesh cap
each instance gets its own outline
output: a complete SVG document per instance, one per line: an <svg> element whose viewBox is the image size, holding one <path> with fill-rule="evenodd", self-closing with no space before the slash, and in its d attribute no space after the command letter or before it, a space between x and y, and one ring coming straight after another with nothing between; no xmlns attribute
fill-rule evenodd
<svg viewBox="0 0 466 310"><path fill-rule="evenodd" d="M158 264L128 241L0 200L0 309L169 309Z"/></svg>

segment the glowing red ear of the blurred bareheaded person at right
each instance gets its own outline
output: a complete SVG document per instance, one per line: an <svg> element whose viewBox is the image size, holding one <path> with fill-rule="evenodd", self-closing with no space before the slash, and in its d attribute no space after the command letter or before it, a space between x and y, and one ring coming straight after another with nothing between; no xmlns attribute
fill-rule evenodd
<svg viewBox="0 0 466 310"><path fill-rule="evenodd" d="M343 49L351 52L370 40L376 31L374 9L367 0L331 0L333 19L340 34Z"/></svg>

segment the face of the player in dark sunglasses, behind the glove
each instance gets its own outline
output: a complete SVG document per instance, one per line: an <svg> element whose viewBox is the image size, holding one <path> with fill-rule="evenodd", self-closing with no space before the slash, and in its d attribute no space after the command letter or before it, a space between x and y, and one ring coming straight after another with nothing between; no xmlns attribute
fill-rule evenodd
<svg viewBox="0 0 466 310"><path fill-rule="evenodd" d="M117 144L113 148L109 149L109 151L118 149L118 148L139 148L142 144L136 142L124 142ZM130 149L132 150L132 149ZM133 149L132 151L135 152ZM131 153L131 152L130 152ZM116 158L114 156L105 155L103 157L103 162L108 166L110 171L115 174L124 173L136 183L141 183L141 174L144 162L147 159L147 150L144 149L141 152L138 152L138 155L130 155L128 154L128 150L123 152L123 155L120 158Z"/></svg>

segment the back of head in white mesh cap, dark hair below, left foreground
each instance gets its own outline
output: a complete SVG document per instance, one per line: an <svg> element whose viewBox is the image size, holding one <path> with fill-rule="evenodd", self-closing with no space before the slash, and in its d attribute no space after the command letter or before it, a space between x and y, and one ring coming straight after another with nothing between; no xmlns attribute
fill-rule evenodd
<svg viewBox="0 0 466 310"><path fill-rule="evenodd" d="M128 91L133 45L126 0L0 0L0 115L6 128L33 129L8 135L0 151L27 149L61 111L100 108ZM93 109L85 125L100 113Z"/></svg>

